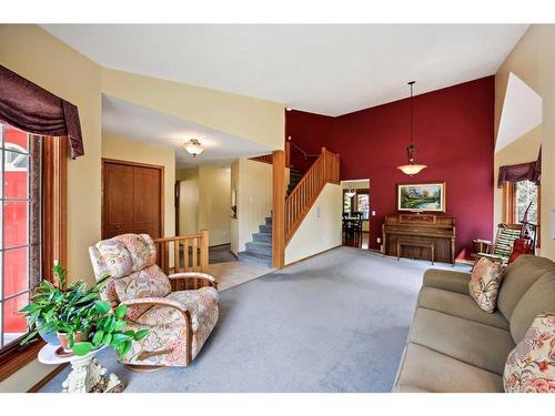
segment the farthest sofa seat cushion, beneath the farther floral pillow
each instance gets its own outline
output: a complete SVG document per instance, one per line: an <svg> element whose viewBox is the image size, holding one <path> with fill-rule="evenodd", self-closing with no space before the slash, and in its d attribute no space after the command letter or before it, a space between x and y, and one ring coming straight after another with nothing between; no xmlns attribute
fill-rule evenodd
<svg viewBox="0 0 555 416"><path fill-rule="evenodd" d="M498 311L488 314L471 296L461 293L424 286L420 291L418 306L508 331L508 322Z"/></svg>

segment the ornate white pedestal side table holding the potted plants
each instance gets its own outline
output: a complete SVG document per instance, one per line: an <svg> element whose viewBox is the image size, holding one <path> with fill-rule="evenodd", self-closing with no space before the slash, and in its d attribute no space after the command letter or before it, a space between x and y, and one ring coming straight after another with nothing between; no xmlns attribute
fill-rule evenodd
<svg viewBox="0 0 555 416"><path fill-rule="evenodd" d="M71 363L71 373L62 383L62 393L120 393L123 392L123 383L115 374L104 376L107 369L102 367L94 356L102 348L90 352L87 355L71 355L61 357L56 354L58 346L44 345L39 352L39 362L42 364L59 365Z"/></svg>

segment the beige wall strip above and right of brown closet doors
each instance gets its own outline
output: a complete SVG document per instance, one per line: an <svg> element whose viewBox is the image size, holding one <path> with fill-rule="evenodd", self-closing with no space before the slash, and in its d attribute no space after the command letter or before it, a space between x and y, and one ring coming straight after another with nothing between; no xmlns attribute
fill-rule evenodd
<svg viewBox="0 0 555 416"><path fill-rule="evenodd" d="M164 166L164 236L175 235L175 150L104 134L102 158Z"/></svg>

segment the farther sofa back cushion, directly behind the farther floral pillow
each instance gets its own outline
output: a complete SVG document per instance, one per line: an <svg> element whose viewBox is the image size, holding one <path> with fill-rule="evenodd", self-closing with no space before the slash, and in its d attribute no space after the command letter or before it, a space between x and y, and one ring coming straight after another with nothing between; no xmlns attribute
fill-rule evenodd
<svg viewBox="0 0 555 416"><path fill-rule="evenodd" d="M497 308L507 321L511 321L516 304L526 291L546 273L555 273L555 263L548 258L532 255L521 255L516 262L505 268L497 297ZM527 323L526 328L531 323L532 321ZM522 336L524 336L524 332Z"/></svg>

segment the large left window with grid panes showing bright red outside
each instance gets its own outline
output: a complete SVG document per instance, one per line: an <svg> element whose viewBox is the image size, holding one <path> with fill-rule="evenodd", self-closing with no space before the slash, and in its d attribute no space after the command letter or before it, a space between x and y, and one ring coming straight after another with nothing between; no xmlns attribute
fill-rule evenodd
<svg viewBox="0 0 555 416"><path fill-rule="evenodd" d="M40 278L41 141L0 124L0 351L27 333L19 310Z"/></svg>

